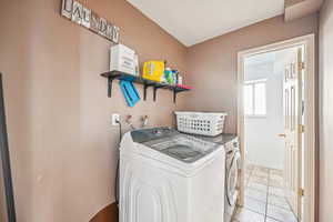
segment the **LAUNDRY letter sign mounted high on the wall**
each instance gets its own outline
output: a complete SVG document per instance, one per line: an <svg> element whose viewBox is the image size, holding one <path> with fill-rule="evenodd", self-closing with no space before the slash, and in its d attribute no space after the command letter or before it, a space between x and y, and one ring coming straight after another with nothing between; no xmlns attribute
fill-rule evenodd
<svg viewBox="0 0 333 222"><path fill-rule="evenodd" d="M62 0L61 16L71 21L119 43L119 27L113 26L107 19L99 17L95 12L75 0Z"/></svg>

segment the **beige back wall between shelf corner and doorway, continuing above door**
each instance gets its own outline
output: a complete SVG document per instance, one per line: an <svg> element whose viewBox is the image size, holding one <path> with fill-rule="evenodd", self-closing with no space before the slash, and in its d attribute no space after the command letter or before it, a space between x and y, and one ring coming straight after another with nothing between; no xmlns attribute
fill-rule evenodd
<svg viewBox="0 0 333 222"><path fill-rule="evenodd" d="M226 132L236 132L236 56L241 50L309 33L316 33L317 14L284 23L283 16L242 28L203 43L188 52L188 82L194 87L185 108L225 111Z"/></svg>

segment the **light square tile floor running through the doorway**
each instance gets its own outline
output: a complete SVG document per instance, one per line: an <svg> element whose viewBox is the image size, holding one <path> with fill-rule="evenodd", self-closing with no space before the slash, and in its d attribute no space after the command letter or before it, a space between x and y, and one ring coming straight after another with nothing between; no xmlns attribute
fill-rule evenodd
<svg viewBox="0 0 333 222"><path fill-rule="evenodd" d="M296 222L284 198L282 171L248 165L245 204L232 222Z"/></svg>

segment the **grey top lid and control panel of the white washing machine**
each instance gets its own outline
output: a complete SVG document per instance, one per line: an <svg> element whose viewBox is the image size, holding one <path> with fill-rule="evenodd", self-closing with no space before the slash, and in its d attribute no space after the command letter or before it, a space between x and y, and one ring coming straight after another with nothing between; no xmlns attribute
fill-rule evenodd
<svg viewBox="0 0 333 222"><path fill-rule="evenodd" d="M165 128L137 131L137 134L132 133L132 138L134 142L142 143L185 163L195 162L220 147Z"/></svg>

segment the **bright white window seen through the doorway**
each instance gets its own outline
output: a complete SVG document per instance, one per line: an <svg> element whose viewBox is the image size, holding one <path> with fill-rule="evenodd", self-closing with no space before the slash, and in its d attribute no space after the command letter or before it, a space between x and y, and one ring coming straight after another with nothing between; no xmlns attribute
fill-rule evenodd
<svg viewBox="0 0 333 222"><path fill-rule="evenodd" d="M265 79L245 82L244 113L248 117L266 115L266 80Z"/></svg>

